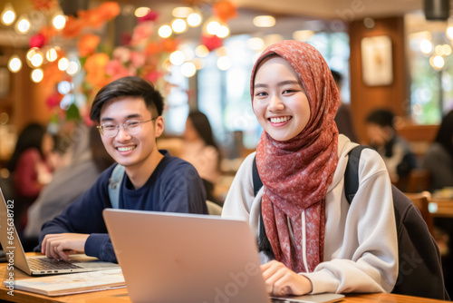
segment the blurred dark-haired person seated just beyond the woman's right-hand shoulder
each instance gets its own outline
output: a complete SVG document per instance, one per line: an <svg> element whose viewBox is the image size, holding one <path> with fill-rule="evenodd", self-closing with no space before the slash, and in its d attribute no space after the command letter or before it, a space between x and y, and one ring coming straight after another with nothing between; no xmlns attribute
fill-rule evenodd
<svg viewBox="0 0 453 303"><path fill-rule="evenodd" d="M390 180L405 191L410 171L417 167L417 158L410 145L396 134L394 114L386 109L371 112L366 118L370 145L381 154L390 174Z"/></svg>

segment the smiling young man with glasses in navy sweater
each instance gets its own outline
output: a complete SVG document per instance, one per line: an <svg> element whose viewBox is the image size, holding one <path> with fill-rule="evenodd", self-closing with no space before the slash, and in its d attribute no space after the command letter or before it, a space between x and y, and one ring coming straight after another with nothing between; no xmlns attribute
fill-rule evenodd
<svg viewBox="0 0 453 303"><path fill-rule="evenodd" d="M164 131L162 110L160 93L139 77L109 83L94 98L91 119L99 124L107 152L125 168L119 208L207 213L206 193L195 168L156 147ZM102 218L102 210L112 207L109 179L115 167L103 171L89 191L43 225L38 249L47 257L68 259L78 251L116 262Z"/></svg>

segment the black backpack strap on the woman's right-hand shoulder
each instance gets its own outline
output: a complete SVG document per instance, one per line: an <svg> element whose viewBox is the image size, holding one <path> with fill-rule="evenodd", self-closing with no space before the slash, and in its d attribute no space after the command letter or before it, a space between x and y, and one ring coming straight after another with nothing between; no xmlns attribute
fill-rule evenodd
<svg viewBox="0 0 453 303"><path fill-rule="evenodd" d="M365 145L357 145L348 152L349 159L344 171L344 193L346 200L351 204L355 194L359 190L359 161L361 161L361 151L368 148Z"/></svg>

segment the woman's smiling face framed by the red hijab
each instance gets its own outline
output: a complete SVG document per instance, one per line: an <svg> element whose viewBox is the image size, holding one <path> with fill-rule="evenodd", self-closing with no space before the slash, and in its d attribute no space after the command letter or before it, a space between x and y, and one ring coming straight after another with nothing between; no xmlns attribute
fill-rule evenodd
<svg viewBox="0 0 453 303"><path fill-rule="evenodd" d="M258 122L276 141L294 138L310 120L304 87L282 57L271 56L258 66L253 108Z"/></svg>

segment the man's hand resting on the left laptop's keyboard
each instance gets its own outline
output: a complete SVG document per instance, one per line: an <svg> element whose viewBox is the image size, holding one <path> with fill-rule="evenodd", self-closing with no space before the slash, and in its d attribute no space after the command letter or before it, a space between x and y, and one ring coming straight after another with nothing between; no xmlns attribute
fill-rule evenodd
<svg viewBox="0 0 453 303"><path fill-rule="evenodd" d="M47 234L41 244L41 252L48 258L69 260L69 255L85 251L88 236L82 233Z"/></svg>

